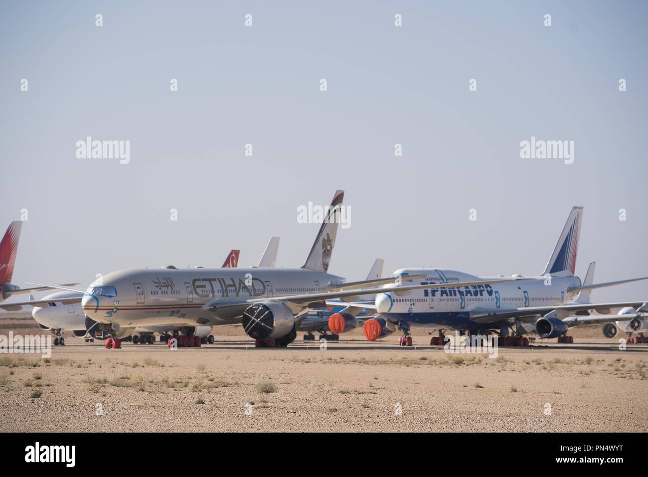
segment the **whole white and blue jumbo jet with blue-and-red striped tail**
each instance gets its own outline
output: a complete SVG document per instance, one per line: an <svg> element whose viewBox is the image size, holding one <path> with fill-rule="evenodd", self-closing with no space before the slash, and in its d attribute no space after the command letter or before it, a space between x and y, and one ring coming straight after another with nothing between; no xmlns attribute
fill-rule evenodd
<svg viewBox="0 0 648 477"><path fill-rule="evenodd" d="M640 329L648 313L648 304L644 300L616 303L578 300L579 293L587 293L588 296L592 289L648 278L581 284L573 273L582 218L583 207L572 208L550 260L539 276L517 283L493 283L491 277L455 270L404 268L397 270L394 275L401 276L404 284L417 283L422 289L385 291L377 295L373 306L349 303L349 308L369 308L378 313L364 324L365 337L370 340L387 336L395 328L402 330L403 337L407 337L411 327L438 329L440 333L441 330L466 330L469 334L478 334L494 330L502 335L507 335L511 329L517 337L535 331L542 338L553 338L563 336L570 326L576 324L610 323L625 319ZM406 281L408 275L424 277ZM519 275L514 277L522 278ZM484 281L480 283L480 280ZM465 286L464 282L473 283ZM446 284L456 286L447 287ZM329 304L333 305L334 302ZM621 307L631 308L624 310L622 317L589 315L590 310L610 313L611 308ZM583 313L587 316L578 316ZM570 317L574 314L577 316ZM408 341L411 343L411 339ZM443 344L443 341L439 344Z"/></svg>

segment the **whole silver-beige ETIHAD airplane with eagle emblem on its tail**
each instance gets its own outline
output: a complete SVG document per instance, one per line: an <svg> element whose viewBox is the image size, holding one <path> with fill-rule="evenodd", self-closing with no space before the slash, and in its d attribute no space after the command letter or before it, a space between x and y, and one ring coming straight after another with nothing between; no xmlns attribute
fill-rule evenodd
<svg viewBox="0 0 648 477"><path fill-rule="evenodd" d="M343 191L336 191L306 263L298 269L167 266L162 270L126 269L108 273L91 284L85 293L64 286L52 287L83 293L82 299L77 299L82 310L98 323L100 330L109 334L139 326L242 323L246 334L256 340L257 347L284 347L294 341L308 310L325 307L326 300L353 300L380 292L429 288L426 284L400 284L399 277L345 283L341 276L329 273L343 197ZM437 287L485 286L515 280L518 278L480 278ZM386 284L391 285L376 287ZM351 317L351 313L347 315Z"/></svg>

